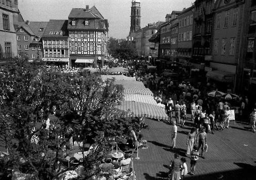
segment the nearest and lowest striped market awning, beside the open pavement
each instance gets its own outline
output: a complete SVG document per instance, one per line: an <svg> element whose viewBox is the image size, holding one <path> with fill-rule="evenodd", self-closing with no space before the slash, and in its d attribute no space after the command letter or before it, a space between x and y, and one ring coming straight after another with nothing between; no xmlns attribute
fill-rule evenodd
<svg viewBox="0 0 256 180"><path fill-rule="evenodd" d="M134 101L122 101L121 105L116 106L119 110L130 110L133 114L132 117L143 117L164 119L167 120L168 116L162 107Z"/></svg>

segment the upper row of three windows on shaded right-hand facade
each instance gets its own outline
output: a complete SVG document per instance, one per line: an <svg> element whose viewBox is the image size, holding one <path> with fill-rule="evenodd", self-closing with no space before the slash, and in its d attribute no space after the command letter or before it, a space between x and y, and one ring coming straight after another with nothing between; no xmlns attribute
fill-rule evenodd
<svg viewBox="0 0 256 180"><path fill-rule="evenodd" d="M223 23L223 28L227 28L229 26L229 10L225 11L224 13L224 23ZM217 21L216 21L216 29L220 28L220 20L221 20L221 13L217 14ZM237 20L238 20L238 8L235 8L233 10L233 20L232 20L232 26L237 25Z"/></svg>

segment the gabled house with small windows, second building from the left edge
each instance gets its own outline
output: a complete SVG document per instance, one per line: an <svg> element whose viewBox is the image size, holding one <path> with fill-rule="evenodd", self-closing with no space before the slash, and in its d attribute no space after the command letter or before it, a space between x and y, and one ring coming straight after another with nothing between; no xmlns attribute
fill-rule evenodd
<svg viewBox="0 0 256 180"><path fill-rule="evenodd" d="M19 22L16 29L19 57L22 53L25 53L29 60L43 57L41 38L47 24L48 22Z"/></svg>

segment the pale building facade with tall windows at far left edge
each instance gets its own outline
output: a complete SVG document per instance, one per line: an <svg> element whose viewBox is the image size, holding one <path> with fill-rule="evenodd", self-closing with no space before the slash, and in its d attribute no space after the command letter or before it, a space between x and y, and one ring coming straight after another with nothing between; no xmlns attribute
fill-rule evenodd
<svg viewBox="0 0 256 180"><path fill-rule="evenodd" d="M18 0L0 1L0 61L17 56Z"/></svg>

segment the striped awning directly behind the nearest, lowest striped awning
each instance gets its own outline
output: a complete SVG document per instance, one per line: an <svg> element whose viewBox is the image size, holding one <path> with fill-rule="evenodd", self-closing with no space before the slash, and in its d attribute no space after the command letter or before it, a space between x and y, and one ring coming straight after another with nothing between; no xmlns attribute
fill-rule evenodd
<svg viewBox="0 0 256 180"><path fill-rule="evenodd" d="M154 100L154 97L150 95L128 94L124 96L124 100L157 105L156 101Z"/></svg>

